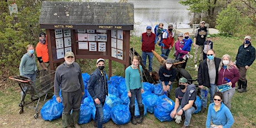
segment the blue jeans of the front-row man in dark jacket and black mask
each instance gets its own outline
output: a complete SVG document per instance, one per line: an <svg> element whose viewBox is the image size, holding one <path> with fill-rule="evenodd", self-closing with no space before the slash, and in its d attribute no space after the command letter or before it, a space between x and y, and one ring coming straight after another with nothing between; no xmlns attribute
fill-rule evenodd
<svg viewBox="0 0 256 128"><path fill-rule="evenodd" d="M95 121L97 122L97 127L101 128L102 127L102 121L103 121L103 106L104 102L100 102L100 105L96 104L94 102L94 105L96 107L96 112L95 112Z"/></svg>

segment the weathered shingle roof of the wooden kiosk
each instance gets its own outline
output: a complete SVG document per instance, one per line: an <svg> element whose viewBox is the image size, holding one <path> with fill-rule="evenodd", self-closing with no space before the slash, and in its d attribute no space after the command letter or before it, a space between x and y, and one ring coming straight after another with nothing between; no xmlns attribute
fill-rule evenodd
<svg viewBox="0 0 256 128"><path fill-rule="evenodd" d="M45 1L42 3L39 23L133 26L134 4Z"/></svg>

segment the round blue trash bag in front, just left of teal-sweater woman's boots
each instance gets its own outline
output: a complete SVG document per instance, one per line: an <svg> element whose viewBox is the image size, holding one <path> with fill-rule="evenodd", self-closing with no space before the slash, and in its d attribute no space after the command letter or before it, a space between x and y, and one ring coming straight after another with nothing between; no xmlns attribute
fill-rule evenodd
<svg viewBox="0 0 256 128"><path fill-rule="evenodd" d="M130 122L131 114L127 105L116 105L111 108L111 119L117 125L124 125Z"/></svg>

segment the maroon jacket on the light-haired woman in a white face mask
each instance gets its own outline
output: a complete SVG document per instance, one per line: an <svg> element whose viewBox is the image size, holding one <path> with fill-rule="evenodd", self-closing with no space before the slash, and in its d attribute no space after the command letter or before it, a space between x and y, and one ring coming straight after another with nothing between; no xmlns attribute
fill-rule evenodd
<svg viewBox="0 0 256 128"><path fill-rule="evenodd" d="M227 83L224 78L228 78L232 82L232 87L235 87L235 82L239 80L239 77L240 75L237 67L230 66L229 71L227 68L224 70L224 68L221 67L220 71L218 72L217 86Z"/></svg>

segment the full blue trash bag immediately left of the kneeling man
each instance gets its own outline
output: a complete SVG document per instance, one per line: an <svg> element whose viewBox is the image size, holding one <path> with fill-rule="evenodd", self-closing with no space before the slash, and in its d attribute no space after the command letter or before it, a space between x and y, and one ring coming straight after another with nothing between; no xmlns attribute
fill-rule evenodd
<svg viewBox="0 0 256 128"><path fill-rule="evenodd" d="M174 101L169 99L166 95L159 96L158 101L156 102L154 115L155 117L163 121L172 121L170 113L174 109Z"/></svg>

